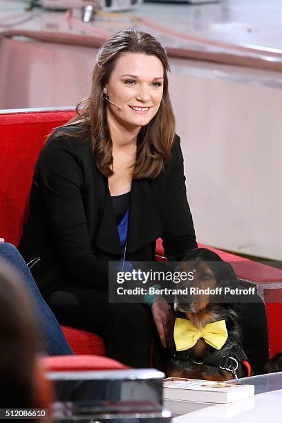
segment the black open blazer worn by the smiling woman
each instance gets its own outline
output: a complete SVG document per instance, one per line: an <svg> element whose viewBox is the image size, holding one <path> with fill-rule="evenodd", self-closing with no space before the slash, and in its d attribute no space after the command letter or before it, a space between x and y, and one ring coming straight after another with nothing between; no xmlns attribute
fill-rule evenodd
<svg viewBox="0 0 282 423"><path fill-rule="evenodd" d="M61 131L35 165L19 250L27 262L41 258L32 272L43 294L61 283L106 291L108 261L122 257L108 180L95 166L90 143ZM153 180L133 180L129 207L126 260L154 261L159 237L170 259L197 247L178 135L164 171Z"/></svg>

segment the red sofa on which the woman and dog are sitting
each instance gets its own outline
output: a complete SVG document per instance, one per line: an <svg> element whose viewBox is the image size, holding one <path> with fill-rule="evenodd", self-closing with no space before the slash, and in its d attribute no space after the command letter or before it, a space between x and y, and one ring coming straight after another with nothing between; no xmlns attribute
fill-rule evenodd
<svg viewBox="0 0 282 423"><path fill-rule="evenodd" d="M46 135L74 115L73 110L2 111L0 113L0 236L17 245L28 206L33 167ZM199 245L200 246L200 245ZM259 284L265 299L270 354L282 350L282 271L215 250L232 263L238 277ZM158 240L157 258L164 259ZM104 344L97 335L64 328L66 339L76 354L104 355Z"/></svg>

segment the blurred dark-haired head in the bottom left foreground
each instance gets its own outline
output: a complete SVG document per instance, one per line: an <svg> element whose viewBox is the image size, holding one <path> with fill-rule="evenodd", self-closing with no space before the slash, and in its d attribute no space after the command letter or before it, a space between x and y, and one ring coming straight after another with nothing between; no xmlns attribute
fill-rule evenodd
<svg viewBox="0 0 282 423"><path fill-rule="evenodd" d="M41 404L39 339L35 310L21 278L0 261L0 408L46 405Z"/></svg>

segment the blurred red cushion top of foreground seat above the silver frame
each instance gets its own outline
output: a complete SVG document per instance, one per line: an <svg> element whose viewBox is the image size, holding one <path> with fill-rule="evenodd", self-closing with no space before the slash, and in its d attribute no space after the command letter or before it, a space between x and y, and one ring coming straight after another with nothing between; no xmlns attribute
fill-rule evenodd
<svg viewBox="0 0 282 423"><path fill-rule="evenodd" d="M99 355L61 355L41 357L40 364L46 372L68 372L86 370L124 370L129 368L119 361Z"/></svg>

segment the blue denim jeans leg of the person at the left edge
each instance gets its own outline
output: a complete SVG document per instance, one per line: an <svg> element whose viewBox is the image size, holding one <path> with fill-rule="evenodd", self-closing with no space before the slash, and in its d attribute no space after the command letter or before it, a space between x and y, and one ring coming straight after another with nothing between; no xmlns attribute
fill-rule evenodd
<svg viewBox="0 0 282 423"><path fill-rule="evenodd" d="M8 243L0 243L0 258L8 261L20 274L24 285L28 288L35 308L39 313L41 328L44 335L46 352L48 355L71 355L73 351L68 345L64 334L59 326L53 312L48 308L46 302L41 296L35 280L23 260L21 254L14 245ZM15 305L16 307L16 305Z"/></svg>

